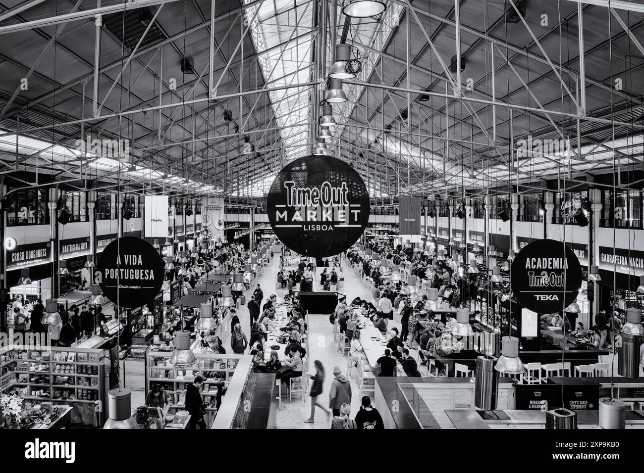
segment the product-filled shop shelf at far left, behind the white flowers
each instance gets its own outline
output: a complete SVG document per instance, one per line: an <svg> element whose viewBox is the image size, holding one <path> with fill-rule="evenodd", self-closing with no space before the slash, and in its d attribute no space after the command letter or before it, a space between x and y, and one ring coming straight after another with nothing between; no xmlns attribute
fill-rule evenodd
<svg viewBox="0 0 644 473"><path fill-rule="evenodd" d="M28 400L84 404L73 416L97 426L102 412L95 416L95 405L104 405L103 364L104 351L99 349L2 348L0 395L15 391Z"/></svg>

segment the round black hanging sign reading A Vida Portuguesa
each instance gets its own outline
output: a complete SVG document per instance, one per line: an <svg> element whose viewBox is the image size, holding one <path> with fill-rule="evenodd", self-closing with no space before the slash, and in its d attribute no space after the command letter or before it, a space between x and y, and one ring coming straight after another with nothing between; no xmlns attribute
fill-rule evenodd
<svg viewBox="0 0 644 473"><path fill-rule="evenodd" d="M118 306L144 306L161 290L164 261L155 247L144 239L118 238L100 254L94 279L100 284L103 295Z"/></svg>

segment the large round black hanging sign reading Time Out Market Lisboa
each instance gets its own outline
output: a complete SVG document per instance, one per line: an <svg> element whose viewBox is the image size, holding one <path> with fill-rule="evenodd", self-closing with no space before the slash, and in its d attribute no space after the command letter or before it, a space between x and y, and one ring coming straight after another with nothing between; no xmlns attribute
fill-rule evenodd
<svg viewBox="0 0 644 473"><path fill-rule="evenodd" d="M270 226L294 252L312 257L340 254L363 234L369 192L348 163L305 156L287 164L270 186Z"/></svg>

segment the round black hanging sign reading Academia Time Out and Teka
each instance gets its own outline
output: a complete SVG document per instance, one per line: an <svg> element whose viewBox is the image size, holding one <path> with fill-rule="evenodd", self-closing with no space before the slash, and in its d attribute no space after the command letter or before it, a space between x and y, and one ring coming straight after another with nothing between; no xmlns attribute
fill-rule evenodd
<svg viewBox="0 0 644 473"><path fill-rule="evenodd" d="M576 299L582 287L582 266L562 241L535 240L512 262L512 292L527 310L555 313Z"/></svg>

